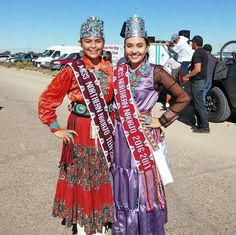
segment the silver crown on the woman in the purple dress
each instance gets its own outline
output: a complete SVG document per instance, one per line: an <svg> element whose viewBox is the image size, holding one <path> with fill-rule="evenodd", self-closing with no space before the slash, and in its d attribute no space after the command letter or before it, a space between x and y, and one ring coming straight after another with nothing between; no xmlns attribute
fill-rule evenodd
<svg viewBox="0 0 236 235"><path fill-rule="evenodd" d="M130 37L147 37L144 20L137 15L130 17L126 21L125 38Z"/></svg>

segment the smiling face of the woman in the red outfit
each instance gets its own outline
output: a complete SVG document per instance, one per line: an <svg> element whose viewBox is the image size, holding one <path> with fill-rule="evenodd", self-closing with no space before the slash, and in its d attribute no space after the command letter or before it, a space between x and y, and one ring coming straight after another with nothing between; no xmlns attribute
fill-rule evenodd
<svg viewBox="0 0 236 235"><path fill-rule="evenodd" d="M89 58L97 59L102 55L102 50L104 47L103 38L82 38L80 43L85 55Z"/></svg>

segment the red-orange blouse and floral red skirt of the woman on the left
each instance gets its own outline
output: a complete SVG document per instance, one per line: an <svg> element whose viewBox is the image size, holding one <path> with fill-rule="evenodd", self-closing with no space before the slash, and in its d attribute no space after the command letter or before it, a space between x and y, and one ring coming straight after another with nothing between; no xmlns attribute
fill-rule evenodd
<svg viewBox="0 0 236 235"><path fill-rule="evenodd" d="M101 59L93 65L84 56L86 68L99 70L107 75L107 103L113 98L113 71L108 61ZM65 96L70 101L84 103L72 70L66 67L59 72L39 98L40 120L47 125L56 121L56 108ZM67 225L79 223L87 234L101 232L105 223L112 221L112 188L105 157L95 140L90 138L91 119L70 114L68 129L75 130L75 143L63 143L60 174L54 198L53 215L66 219Z"/></svg>

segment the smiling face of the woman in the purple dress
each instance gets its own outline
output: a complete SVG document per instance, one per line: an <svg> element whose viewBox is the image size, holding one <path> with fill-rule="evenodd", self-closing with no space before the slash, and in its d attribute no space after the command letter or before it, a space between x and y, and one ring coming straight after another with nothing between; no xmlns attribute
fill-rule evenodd
<svg viewBox="0 0 236 235"><path fill-rule="evenodd" d="M130 37L125 40L125 54L132 69L137 68L143 62L148 48L144 38Z"/></svg>

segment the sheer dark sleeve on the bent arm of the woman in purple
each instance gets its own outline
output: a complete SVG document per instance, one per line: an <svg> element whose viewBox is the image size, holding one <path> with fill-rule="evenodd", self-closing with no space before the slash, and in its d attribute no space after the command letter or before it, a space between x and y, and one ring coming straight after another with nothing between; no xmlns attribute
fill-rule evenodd
<svg viewBox="0 0 236 235"><path fill-rule="evenodd" d="M156 90L163 88L175 98L170 109L159 118L161 125L167 127L179 117L179 112L189 104L191 98L160 65L157 65L154 70L154 87Z"/></svg>

